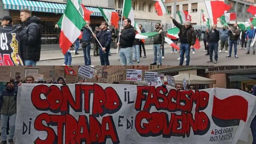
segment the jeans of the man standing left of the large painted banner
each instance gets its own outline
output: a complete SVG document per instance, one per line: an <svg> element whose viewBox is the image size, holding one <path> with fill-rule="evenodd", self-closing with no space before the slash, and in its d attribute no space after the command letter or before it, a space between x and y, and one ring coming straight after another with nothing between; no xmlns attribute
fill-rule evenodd
<svg viewBox="0 0 256 144"><path fill-rule="evenodd" d="M5 115L2 115L2 114L1 114L1 123L2 123L2 127L1 127L2 133L1 133L1 137L2 137L2 141L7 139L6 128L7 128L8 118L9 118L9 123L10 123L9 140L10 140L10 139L13 140L14 130L15 130L16 114L13 114L13 115L11 115L11 116L5 116Z"/></svg>

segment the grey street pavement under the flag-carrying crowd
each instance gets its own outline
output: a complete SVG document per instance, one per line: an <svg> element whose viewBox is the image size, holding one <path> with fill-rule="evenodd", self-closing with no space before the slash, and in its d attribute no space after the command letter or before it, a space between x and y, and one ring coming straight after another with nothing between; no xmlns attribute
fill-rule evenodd
<svg viewBox="0 0 256 144"><path fill-rule="evenodd" d="M238 59L234 58L234 49L232 52L231 58L226 58L228 55L223 51L222 53L218 52L218 63L207 63L206 61L209 60L209 55L206 56L206 52L204 52L204 45L203 42L201 42L201 48L199 50L195 50L195 54L192 54L190 52L190 63L189 65L214 65L214 66L220 66L220 65L255 65L256 55L251 54L245 54L245 49L240 49L241 45L237 45L237 55ZM152 49L152 45L146 45L146 55L147 58L141 58L141 62L137 63L134 62L134 65L149 65L154 60L154 52ZM220 44L219 44L219 50L220 50ZM229 49L228 49L229 50ZM170 53L172 51L172 48L168 44L165 44L164 48L164 59L162 59L162 65L179 65L180 61L177 60L180 56L179 53ZM72 59L72 65L84 65L84 57L82 51L78 51L79 55L73 55ZM112 56L109 56L109 62L110 65L121 65L119 59L119 55L116 54L116 49L111 49ZM91 55L93 54L93 51L91 50ZM143 52L142 52L143 56ZM100 65L100 57L91 57L92 65ZM37 62L37 65L63 65L64 63L64 56L61 53L61 51L46 51L41 52L41 59L39 62ZM186 61L184 61L183 65L186 64Z"/></svg>

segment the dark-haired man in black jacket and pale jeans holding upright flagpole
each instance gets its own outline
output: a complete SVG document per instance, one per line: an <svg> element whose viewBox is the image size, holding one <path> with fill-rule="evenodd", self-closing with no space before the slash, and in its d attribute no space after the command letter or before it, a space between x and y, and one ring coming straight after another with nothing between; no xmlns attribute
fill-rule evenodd
<svg viewBox="0 0 256 144"><path fill-rule="evenodd" d="M133 49L133 41L135 39L135 31L132 27L132 21L130 19L124 20L124 30L119 34L120 43L117 43L117 46L120 45L120 61L123 66L125 65L133 65L132 63L132 49Z"/></svg>

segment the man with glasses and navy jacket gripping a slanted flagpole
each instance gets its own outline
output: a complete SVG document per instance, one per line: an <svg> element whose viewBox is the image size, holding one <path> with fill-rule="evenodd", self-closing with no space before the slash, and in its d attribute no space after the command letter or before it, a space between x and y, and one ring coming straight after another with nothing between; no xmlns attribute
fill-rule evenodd
<svg viewBox="0 0 256 144"><path fill-rule="evenodd" d="M103 47L99 50L101 66L109 66L108 53L110 51L112 34L108 30L108 23L106 21L101 22L101 31L97 35L93 34L93 37L97 37Z"/></svg>

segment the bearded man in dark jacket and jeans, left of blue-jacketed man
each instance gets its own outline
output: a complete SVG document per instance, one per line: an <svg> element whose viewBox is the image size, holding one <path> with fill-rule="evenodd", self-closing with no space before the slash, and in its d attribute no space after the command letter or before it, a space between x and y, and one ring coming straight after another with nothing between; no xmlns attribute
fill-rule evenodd
<svg viewBox="0 0 256 144"><path fill-rule="evenodd" d="M234 28L229 29L229 55L227 55L227 58L231 57L232 53L232 47L234 44L234 52L235 52L235 58L238 58L237 56L237 39L240 36L240 30L237 28L237 23L234 23Z"/></svg>

